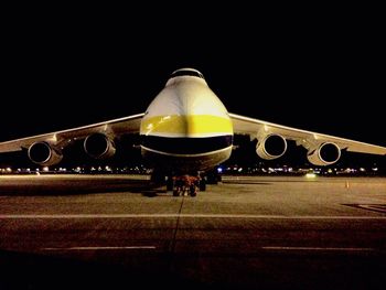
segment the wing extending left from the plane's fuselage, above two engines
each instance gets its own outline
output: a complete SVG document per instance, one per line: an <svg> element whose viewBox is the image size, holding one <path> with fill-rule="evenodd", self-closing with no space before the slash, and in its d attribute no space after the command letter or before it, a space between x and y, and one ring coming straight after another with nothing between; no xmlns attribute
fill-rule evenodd
<svg viewBox="0 0 386 290"><path fill-rule="evenodd" d="M96 132L114 136L139 132L140 122L143 115L144 114L138 114L68 130L0 142L0 153L21 151L23 149L28 149L35 142L54 142L55 144L65 147L67 143L71 143L77 139L86 138L87 136Z"/></svg>

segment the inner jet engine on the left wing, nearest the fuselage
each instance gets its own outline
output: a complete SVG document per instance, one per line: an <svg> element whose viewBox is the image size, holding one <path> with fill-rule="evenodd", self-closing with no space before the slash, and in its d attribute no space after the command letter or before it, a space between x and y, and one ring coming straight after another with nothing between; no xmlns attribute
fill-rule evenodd
<svg viewBox="0 0 386 290"><path fill-rule="evenodd" d="M88 136L83 147L88 155L95 159L107 159L115 154L114 141L104 133L93 133Z"/></svg>

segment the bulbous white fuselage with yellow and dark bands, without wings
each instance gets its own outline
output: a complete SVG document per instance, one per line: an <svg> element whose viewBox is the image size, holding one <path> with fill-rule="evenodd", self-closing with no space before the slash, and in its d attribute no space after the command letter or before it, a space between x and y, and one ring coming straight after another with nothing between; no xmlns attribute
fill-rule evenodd
<svg viewBox="0 0 386 290"><path fill-rule="evenodd" d="M230 157L233 123L199 71L175 71L149 105L140 127L141 153L154 167L206 171Z"/></svg>

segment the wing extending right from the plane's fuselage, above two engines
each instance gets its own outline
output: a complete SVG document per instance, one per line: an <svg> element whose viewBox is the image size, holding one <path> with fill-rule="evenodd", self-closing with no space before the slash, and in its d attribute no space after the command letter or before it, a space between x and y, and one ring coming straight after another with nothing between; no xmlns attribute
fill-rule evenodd
<svg viewBox="0 0 386 290"><path fill-rule="evenodd" d="M318 146L324 142L333 142L341 150L369 154L386 154L386 147L364 143L350 139L339 138L334 136L300 130L291 127L286 127L268 121L253 119L236 114L229 114L233 121L234 132L240 135L249 135L251 139L259 138L260 136L267 136L269 133L276 133L282 136L287 140L293 140L298 146L303 146L309 149L312 146Z"/></svg>

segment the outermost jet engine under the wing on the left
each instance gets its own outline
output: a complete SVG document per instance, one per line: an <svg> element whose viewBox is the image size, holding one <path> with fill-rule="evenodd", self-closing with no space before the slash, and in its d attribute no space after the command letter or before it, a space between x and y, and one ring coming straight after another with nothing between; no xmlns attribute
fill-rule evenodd
<svg viewBox="0 0 386 290"><path fill-rule="evenodd" d="M55 165L63 159L62 153L49 142L34 142L28 150L29 159L39 165Z"/></svg>

